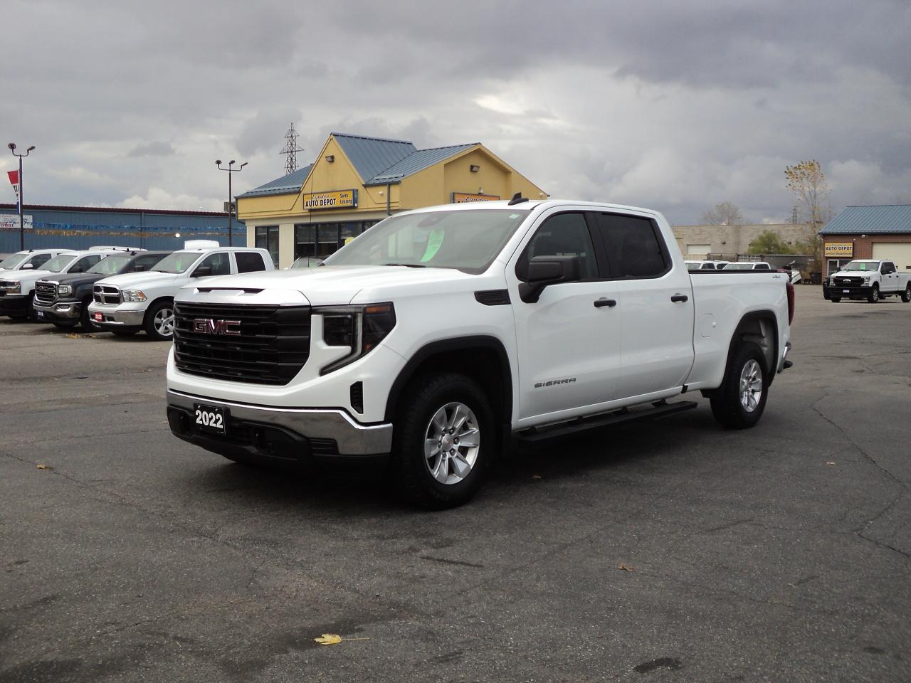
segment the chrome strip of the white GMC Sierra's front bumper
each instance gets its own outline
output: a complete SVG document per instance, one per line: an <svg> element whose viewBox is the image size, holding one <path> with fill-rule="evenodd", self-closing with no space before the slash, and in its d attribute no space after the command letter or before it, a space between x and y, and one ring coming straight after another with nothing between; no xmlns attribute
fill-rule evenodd
<svg viewBox="0 0 911 683"><path fill-rule="evenodd" d="M276 408L232 403L168 390L169 406L192 413L194 403L222 408L225 413L230 414L230 420L270 424L300 434L307 439L332 439L338 444L338 454L340 455L378 455L388 454L392 450L392 424L356 423L348 413L342 410ZM230 433L228 438L230 439Z"/></svg>

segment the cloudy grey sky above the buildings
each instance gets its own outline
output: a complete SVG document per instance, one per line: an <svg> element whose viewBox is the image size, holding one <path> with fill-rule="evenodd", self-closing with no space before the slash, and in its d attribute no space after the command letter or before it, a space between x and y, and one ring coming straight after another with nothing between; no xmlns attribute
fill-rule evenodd
<svg viewBox="0 0 911 683"><path fill-rule="evenodd" d="M214 159L249 162L236 194L278 178L292 122L301 165L330 131L483 142L553 197L677 224L790 218L783 170L809 158L836 212L911 202L908 0L5 0L0 21L26 203L220 209Z"/></svg>

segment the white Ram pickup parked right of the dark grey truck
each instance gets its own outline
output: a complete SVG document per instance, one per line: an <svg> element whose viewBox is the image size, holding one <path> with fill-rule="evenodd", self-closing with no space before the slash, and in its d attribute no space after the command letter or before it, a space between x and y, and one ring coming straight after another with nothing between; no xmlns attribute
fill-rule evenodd
<svg viewBox="0 0 911 683"><path fill-rule="evenodd" d="M175 251L148 272L98 280L89 315L105 331L128 335L145 330L151 339L169 341L174 333L174 295L181 287L254 270L275 270L269 251L241 247Z"/></svg>

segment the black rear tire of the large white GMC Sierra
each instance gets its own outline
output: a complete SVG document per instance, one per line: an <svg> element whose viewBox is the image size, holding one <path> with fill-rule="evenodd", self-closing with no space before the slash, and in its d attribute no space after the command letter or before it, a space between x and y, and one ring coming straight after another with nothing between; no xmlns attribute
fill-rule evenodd
<svg viewBox="0 0 911 683"><path fill-rule="evenodd" d="M759 398L756 399L755 394L752 394L752 409L744 405L745 399L742 396L745 391L742 389L742 380L749 380L751 370L758 372L755 378L762 382ZM762 350L752 342L740 342L728 360L722 385L711 394L711 414L715 420L728 429L749 429L758 423L769 396L768 374ZM747 377L744 378L744 375Z"/></svg>

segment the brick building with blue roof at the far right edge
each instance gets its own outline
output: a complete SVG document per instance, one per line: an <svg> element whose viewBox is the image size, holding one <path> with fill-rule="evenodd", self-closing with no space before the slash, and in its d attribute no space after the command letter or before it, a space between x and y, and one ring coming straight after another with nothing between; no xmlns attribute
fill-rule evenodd
<svg viewBox="0 0 911 683"><path fill-rule="evenodd" d="M823 277L854 259L892 260L899 271L911 272L911 204L847 207L819 234Z"/></svg>

